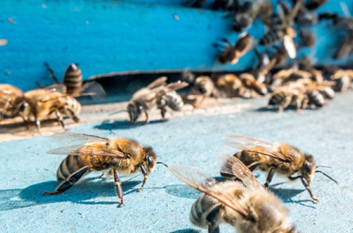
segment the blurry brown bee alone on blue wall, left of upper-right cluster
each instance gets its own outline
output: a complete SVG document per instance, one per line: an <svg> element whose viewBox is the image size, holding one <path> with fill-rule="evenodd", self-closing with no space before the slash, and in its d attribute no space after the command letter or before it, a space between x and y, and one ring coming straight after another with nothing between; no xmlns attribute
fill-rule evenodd
<svg viewBox="0 0 353 233"><path fill-rule="evenodd" d="M222 41L226 42L226 47L219 53L217 58L218 61L222 64L237 63L239 59L250 49L252 40L252 36L246 32L240 34L238 41L234 46L229 40L223 38Z"/></svg>

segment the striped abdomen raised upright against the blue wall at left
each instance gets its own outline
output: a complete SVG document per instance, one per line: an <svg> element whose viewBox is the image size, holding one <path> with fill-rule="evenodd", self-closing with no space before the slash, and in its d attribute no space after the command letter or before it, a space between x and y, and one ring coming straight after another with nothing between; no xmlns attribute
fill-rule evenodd
<svg viewBox="0 0 353 233"><path fill-rule="evenodd" d="M75 64L71 63L64 73L64 85L69 95L79 95L82 86L82 72Z"/></svg>

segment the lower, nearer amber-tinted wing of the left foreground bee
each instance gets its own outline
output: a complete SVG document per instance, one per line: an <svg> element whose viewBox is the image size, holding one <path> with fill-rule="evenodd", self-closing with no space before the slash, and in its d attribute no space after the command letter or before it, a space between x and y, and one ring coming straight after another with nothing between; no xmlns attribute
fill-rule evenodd
<svg viewBox="0 0 353 233"><path fill-rule="evenodd" d="M55 149L50 149L47 154L54 155L77 155L77 156L108 156L108 157L118 157L124 158L124 153L119 150L110 150L101 147L87 146L84 150L79 150L83 145L69 145L65 147L59 147Z"/></svg>

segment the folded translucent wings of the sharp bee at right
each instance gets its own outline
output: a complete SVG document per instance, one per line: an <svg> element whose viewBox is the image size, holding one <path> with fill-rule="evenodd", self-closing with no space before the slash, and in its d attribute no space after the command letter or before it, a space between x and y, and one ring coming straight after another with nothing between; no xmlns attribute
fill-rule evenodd
<svg viewBox="0 0 353 233"><path fill-rule="evenodd" d="M287 158L281 153L278 153L275 150L275 146L267 142L259 141L249 137L243 137L239 135L226 135L228 138L231 138L237 142L224 142L223 144L237 148L239 150L246 150L254 153L259 153L273 157L281 161L287 161Z"/></svg>

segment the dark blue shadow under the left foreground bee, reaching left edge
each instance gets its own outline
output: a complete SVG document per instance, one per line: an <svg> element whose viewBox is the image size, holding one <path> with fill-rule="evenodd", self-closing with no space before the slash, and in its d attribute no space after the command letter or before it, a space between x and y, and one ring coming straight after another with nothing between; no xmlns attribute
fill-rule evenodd
<svg viewBox="0 0 353 233"><path fill-rule="evenodd" d="M124 196L131 193L135 186L142 181L123 181ZM60 195L43 195L44 191L54 191L58 186L56 181L46 181L28 186L24 189L0 190L0 211L12 210L35 205L44 205L56 202L73 202L81 204L120 204L116 197L113 181L83 180L71 189ZM96 197L111 197L109 202L86 201Z"/></svg>

